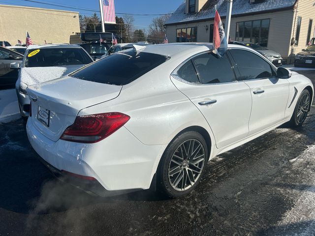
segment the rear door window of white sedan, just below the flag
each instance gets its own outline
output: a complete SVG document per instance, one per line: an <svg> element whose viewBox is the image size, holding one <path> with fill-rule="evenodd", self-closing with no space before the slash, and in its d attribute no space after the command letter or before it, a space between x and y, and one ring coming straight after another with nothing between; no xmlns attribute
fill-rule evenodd
<svg viewBox="0 0 315 236"><path fill-rule="evenodd" d="M217 84L235 81L234 71L227 54L218 58L212 53L204 53L192 59L201 84Z"/></svg>

